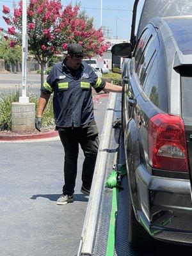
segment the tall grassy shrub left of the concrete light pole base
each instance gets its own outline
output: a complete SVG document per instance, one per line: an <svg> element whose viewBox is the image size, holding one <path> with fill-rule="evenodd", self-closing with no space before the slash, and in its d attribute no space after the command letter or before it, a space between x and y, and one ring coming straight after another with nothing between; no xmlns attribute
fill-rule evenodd
<svg viewBox="0 0 192 256"><path fill-rule="evenodd" d="M0 130L10 131L12 128L12 102L19 101L19 88L3 93L0 98Z"/></svg>

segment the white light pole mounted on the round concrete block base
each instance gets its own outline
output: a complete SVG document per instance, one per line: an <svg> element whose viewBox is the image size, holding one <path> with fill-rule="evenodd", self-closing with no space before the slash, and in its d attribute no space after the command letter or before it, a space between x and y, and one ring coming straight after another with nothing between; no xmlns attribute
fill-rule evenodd
<svg viewBox="0 0 192 256"><path fill-rule="evenodd" d="M19 102L28 103L29 97L26 95L26 70L28 56L28 35L27 35L27 3L22 0L22 97Z"/></svg>

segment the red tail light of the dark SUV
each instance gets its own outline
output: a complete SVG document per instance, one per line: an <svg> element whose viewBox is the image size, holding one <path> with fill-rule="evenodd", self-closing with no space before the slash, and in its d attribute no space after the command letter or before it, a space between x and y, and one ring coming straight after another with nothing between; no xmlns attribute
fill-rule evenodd
<svg viewBox="0 0 192 256"><path fill-rule="evenodd" d="M150 118L148 157L152 168L189 172L184 123L180 116L158 114Z"/></svg>

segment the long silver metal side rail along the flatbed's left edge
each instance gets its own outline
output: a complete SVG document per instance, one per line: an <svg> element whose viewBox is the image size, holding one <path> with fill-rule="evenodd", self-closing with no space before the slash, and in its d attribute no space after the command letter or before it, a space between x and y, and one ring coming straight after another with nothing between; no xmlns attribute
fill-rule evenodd
<svg viewBox="0 0 192 256"><path fill-rule="evenodd" d="M118 129L113 129L112 122L121 116L120 102L120 94L109 94L108 108L106 109L106 116L104 118L104 127L101 134L99 153L95 165L92 190L90 193L77 256L95 255L94 248L97 242L97 232L99 232L99 216L100 213L102 213L100 209L102 207L102 201L104 200L104 194L108 194L108 204L111 204L112 189L104 188L104 184L106 177L112 170L113 164L116 163L120 129L119 131L116 131ZM107 205L107 207L109 212L106 212L106 214L108 214L110 218L111 207L110 205ZM106 223L106 225L108 224L109 223ZM107 242L107 237L105 241Z"/></svg>

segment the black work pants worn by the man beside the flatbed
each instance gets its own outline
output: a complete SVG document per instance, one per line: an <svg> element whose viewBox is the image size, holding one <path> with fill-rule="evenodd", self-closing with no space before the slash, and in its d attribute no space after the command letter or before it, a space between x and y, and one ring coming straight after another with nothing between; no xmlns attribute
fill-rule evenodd
<svg viewBox="0 0 192 256"><path fill-rule="evenodd" d="M68 127L59 131L60 139L65 150L63 195L73 195L76 186L77 157L79 144L84 152L82 183L84 188L92 186L93 172L99 148L97 125L88 127Z"/></svg>

